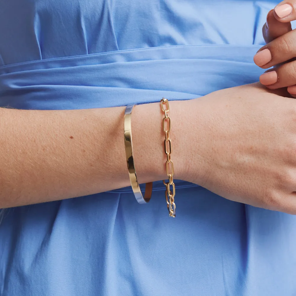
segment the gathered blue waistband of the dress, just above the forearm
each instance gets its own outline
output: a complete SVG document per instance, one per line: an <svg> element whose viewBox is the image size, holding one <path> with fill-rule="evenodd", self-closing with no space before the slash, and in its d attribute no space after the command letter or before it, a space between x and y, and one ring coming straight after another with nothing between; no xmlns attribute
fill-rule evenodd
<svg viewBox="0 0 296 296"><path fill-rule="evenodd" d="M63 110L193 99L258 80L259 46L133 49L0 67L0 105Z"/></svg>

